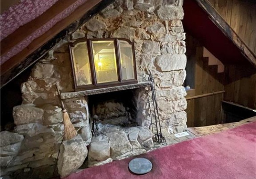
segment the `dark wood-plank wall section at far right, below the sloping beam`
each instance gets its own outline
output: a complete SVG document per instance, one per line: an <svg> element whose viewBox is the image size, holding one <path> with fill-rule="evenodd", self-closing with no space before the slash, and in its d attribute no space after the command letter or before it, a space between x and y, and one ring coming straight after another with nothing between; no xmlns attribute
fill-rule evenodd
<svg viewBox="0 0 256 179"><path fill-rule="evenodd" d="M252 66L226 66L225 101L256 109L256 69Z"/></svg>

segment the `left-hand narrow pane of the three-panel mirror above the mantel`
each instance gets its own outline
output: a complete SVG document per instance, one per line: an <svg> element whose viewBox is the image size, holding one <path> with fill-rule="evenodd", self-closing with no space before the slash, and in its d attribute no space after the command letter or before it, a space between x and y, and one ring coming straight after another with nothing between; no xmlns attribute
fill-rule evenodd
<svg viewBox="0 0 256 179"><path fill-rule="evenodd" d="M76 46L72 47L72 54L77 86L92 84L87 43L77 43Z"/></svg>

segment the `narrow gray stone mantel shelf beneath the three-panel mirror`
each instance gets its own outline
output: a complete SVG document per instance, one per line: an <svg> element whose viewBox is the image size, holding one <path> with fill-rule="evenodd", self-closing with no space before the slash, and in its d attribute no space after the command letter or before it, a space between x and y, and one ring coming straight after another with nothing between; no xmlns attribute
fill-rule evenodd
<svg viewBox="0 0 256 179"><path fill-rule="evenodd" d="M135 89L135 88L143 88L143 87L148 87L148 86L151 86L151 81L140 82L137 84L122 85L122 86L118 86L118 87L101 88L101 89L96 89L96 90L61 92L61 99L76 98L76 97L88 96L88 95L96 95L96 94L115 92L115 91L121 91L121 90L131 90L131 89Z"/></svg>

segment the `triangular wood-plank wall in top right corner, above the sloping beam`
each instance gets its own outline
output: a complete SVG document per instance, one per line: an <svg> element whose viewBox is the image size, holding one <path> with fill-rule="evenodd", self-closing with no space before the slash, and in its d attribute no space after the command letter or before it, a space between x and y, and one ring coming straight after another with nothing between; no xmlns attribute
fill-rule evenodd
<svg viewBox="0 0 256 179"><path fill-rule="evenodd" d="M208 0L244 43L256 54L256 1Z"/></svg>

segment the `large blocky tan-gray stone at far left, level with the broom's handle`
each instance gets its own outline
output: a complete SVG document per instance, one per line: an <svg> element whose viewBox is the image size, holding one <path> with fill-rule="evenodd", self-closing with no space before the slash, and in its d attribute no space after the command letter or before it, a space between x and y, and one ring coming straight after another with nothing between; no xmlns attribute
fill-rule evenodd
<svg viewBox="0 0 256 179"><path fill-rule="evenodd" d="M35 107L35 105L26 104L15 106L12 115L16 125L41 122L43 120L44 110Z"/></svg>

